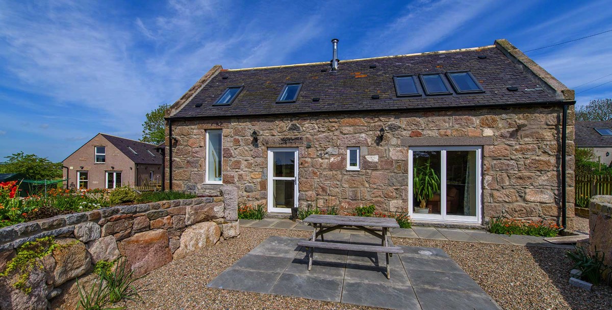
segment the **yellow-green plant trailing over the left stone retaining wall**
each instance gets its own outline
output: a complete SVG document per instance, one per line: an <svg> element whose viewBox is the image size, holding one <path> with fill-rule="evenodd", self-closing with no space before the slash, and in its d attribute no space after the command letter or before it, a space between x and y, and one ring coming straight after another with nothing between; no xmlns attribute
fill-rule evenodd
<svg viewBox="0 0 612 310"><path fill-rule="evenodd" d="M43 268L39 259L51 254L59 246L54 237L43 237L24 243L17 249L17 255L7 263L0 276L9 276L16 270L19 276L13 287L29 294L32 292L32 287L28 286L30 272L34 268Z"/></svg>

